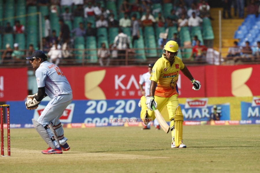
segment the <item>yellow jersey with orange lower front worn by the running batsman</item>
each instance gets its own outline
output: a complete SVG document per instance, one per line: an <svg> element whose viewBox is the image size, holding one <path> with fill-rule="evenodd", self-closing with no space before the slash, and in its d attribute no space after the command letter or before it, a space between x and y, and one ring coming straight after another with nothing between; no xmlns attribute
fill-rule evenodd
<svg viewBox="0 0 260 173"><path fill-rule="evenodd" d="M185 66L179 57L170 66L170 62L162 56L153 66L150 80L157 83L155 95L161 97L170 97L178 93L177 81L180 69Z"/></svg>

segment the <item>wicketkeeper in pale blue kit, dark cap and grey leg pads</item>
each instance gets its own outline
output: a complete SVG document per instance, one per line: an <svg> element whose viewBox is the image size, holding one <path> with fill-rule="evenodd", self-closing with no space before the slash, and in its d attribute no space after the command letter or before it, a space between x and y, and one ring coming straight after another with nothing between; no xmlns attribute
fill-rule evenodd
<svg viewBox="0 0 260 173"><path fill-rule="evenodd" d="M34 128L49 148L42 150L43 154L62 154L62 151L70 149L67 138L59 118L63 111L72 101L72 90L70 84L60 68L47 61L47 56L42 51L35 51L30 57L38 85L38 92L27 96L25 102L27 109L36 109L45 96L51 101L42 111L38 120L32 119Z"/></svg>

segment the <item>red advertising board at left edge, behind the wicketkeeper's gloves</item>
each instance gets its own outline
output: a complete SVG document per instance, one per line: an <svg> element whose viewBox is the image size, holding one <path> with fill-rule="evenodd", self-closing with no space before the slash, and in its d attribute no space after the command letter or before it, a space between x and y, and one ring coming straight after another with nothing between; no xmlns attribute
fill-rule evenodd
<svg viewBox="0 0 260 173"><path fill-rule="evenodd" d="M0 68L0 101L21 101L27 95L27 68Z"/></svg>

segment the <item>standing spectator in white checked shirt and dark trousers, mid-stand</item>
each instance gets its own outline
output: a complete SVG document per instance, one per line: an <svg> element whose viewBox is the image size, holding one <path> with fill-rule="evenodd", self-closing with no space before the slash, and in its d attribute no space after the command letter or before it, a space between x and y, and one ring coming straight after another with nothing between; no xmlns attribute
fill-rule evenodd
<svg viewBox="0 0 260 173"><path fill-rule="evenodd" d="M114 44L117 45L119 64L125 64L125 52L129 48L130 39L123 33L122 29L118 30L118 35L114 39Z"/></svg>

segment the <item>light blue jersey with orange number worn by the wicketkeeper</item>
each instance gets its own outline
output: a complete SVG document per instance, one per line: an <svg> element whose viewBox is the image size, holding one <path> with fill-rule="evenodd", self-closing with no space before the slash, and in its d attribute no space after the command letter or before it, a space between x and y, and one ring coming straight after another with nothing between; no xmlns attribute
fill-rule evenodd
<svg viewBox="0 0 260 173"><path fill-rule="evenodd" d="M35 71L35 76L38 88L45 87L45 92L50 98L72 93L68 80L55 64L43 62Z"/></svg>

